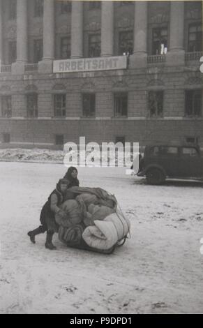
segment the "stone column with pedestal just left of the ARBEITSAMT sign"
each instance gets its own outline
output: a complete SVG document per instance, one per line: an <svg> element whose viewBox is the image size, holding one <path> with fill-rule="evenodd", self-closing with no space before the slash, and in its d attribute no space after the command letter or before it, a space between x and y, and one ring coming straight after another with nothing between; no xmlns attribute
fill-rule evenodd
<svg viewBox="0 0 203 328"><path fill-rule="evenodd" d="M52 73L54 60L54 0L44 0L43 10L43 60L38 64L39 73Z"/></svg>

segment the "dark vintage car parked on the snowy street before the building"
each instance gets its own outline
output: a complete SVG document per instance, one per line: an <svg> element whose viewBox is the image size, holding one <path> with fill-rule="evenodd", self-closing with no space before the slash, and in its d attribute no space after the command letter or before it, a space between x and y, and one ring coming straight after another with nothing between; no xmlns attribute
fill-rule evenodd
<svg viewBox="0 0 203 328"><path fill-rule="evenodd" d="M162 184L167 177L203 179L203 154L197 144L146 146L137 176L148 184Z"/></svg>

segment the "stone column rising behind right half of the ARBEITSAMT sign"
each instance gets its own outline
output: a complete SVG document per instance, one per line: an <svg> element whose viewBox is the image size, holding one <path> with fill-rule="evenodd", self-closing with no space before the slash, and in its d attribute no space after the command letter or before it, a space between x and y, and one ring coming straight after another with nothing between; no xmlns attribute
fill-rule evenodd
<svg viewBox="0 0 203 328"><path fill-rule="evenodd" d="M101 56L114 53L114 2L102 1L101 11Z"/></svg>

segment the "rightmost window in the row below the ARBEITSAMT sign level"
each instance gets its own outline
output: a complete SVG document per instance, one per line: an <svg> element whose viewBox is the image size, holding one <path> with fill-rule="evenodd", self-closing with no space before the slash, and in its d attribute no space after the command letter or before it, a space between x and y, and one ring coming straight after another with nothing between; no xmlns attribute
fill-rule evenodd
<svg viewBox="0 0 203 328"><path fill-rule="evenodd" d="M186 90L185 110L187 117L200 117L202 114L202 90Z"/></svg>

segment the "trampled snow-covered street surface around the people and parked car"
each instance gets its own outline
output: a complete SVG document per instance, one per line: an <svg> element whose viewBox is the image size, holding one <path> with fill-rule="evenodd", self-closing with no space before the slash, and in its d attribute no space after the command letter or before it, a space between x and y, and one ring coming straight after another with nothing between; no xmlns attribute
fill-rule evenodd
<svg viewBox="0 0 203 328"><path fill-rule="evenodd" d="M123 168L79 168L114 193L131 238L112 255L33 245L27 232L66 167L0 163L0 313L203 313L203 184L147 186Z"/></svg>

